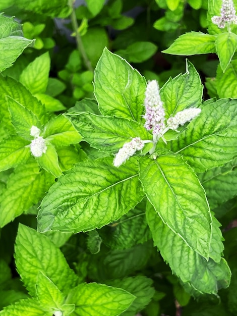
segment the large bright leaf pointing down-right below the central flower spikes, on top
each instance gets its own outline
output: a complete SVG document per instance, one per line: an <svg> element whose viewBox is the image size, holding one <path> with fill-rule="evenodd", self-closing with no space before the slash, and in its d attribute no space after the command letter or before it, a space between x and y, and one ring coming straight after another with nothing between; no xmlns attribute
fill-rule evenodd
<svg viewBox="0 0 237 316"><path fill-rule="evenodd" d="M155 161L141 157L139 167L144 192L162 221L208 259L212 220L205 191L193 169L172 153L159 155Z"/></svg>

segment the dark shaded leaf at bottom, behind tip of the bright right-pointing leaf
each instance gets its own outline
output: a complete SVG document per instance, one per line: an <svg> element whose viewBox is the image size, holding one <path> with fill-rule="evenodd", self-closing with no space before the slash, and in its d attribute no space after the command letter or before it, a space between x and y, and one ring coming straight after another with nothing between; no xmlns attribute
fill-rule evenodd
<svg viewBox="0 0 237 316"><path fill-rule="evenodd" d="M153 281L144 276L129 277L123 280L107 281L106 284L118 288L122 288L129 293L136 296L131 306L124 311L121 315L132 316L137 314L139 310L142 310L151 301L155 294L155 290L152 287Z"/></svg>

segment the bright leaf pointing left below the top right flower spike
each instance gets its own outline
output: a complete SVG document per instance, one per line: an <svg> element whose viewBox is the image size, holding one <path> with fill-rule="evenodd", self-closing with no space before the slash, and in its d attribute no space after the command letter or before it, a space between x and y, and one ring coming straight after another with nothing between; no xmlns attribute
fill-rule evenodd
<svg viewBox="0 0 237 316"><path fill-rule="evenodd" d="M199 55L216 52L214 35L204 34L202 32L190 32L179 36L169 46L163 50L165 54L171 55Z"/></svg>

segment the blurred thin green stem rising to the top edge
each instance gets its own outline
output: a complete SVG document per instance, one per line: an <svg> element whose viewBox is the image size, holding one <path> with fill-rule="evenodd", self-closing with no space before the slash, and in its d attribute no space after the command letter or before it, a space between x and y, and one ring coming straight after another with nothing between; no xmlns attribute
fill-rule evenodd
<svg viewBox="0 0 237 316"><path fill-rule="evenodd" d="M83 59L83 62L85 64L86 68L88 70L90 70L91 72L93 72L94 69L92 68L91 63L86 55L86 51L85 51L85 48L83 46L80 33L78 32L77 17L76 17L76 12L75 12L75 8L74 8L73 3L74 3L74 1L71 0L71 3L70 3L71 8L72 8L71 21L72 21L73 31L76 34L77 49L80 52L80 55L82 56L82 59Z"/></svg>

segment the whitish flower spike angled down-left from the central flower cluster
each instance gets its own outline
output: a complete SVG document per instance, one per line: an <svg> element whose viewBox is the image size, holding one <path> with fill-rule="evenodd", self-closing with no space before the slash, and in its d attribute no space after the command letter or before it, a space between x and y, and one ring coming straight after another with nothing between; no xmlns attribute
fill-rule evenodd
<svg viewBox="0 0 237 316"><path fill-rule="evenodd" d="M137 150L141 150L145 142L140 137L133 138L129 143L125 143L116 153L113 166L120 167L126 160L128 160Z"/></svg>

